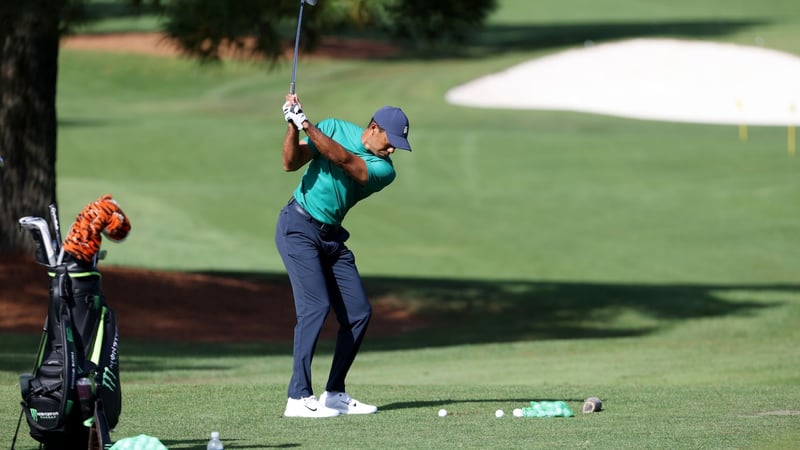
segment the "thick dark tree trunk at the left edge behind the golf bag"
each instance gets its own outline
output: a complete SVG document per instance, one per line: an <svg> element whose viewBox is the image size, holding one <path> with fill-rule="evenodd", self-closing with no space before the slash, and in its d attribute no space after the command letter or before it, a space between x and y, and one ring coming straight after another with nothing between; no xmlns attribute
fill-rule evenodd
<svg viewBox="0 0 800 450"><path fill-rule="evenodd" d="M0 5L0 256L31 251L33 240L17 221L49 218L47 206L56 202L59 21L66 2Z"/></svg>

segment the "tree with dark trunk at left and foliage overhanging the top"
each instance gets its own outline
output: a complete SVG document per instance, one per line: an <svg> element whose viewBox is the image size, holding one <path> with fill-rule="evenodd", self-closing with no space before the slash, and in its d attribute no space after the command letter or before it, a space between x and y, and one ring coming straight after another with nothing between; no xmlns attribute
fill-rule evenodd
<svg viewBox="0 0 800 450"><path fill-rule="evenodd" d="M119 0L163 13L164 32L189 55L218 61L223 50L284 54L298 0ZM32 250L17 226L56 203L56 84L60 36L91 20L86 0L0 0L0 254ZM461 42L495 0L321 0L305 8L300 39L313 48L346 27L389 30L406 42Z"/></svg>

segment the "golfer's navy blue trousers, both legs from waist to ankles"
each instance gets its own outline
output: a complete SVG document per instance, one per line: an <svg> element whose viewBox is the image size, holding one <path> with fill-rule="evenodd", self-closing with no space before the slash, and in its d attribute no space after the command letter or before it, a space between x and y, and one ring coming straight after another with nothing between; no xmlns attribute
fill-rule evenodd
<svg viewBox="0 0 800 450"><path fill-rule="evenodd" d="M314 395L311 361L328 311L333 309L339 332L325 390L345 391L347 372L367 331L372 306L353 252L344 243L349 236L341 227L321 227L294 199L278 217L275 245L292 283L297 315L290 398Z"/></svg>

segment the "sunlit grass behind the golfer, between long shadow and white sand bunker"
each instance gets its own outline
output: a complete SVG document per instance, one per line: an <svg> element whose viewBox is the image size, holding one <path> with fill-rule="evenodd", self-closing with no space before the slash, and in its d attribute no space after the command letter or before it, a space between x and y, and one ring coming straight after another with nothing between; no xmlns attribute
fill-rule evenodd
<svg viewBox="0 0 800 450"><path fill-rule="evenodd" d="M285 80L244 65L201 71L191 62L74 57L79 64L62 68L59 105L64 221L109 191L133 220L129 242L163 246L156 258L149 245L112 246L111 264L282 270L272 227L298 180L279 161L274 104ZM363 121L359 108L408 104L416 150L394 158L398 180L346 224L366 273L614 281L797 273L797 259L780 251L800 209L785 129L751 130L743 143L735 127L455 108L443 91L478 70L474 61L442 64L464 75L448 83L429 62L301 66L315 78L301 90L312 118L318 109L320 118L332 111ZM349 81L352 71L364 78ZM78 82L97 72L101 81ZM383 87L390 74L396 83ZM331 81L320 86L324 77ZM385 100L372 100L380 91ZM341 92L358 98L345 103ZM631 271L637 261L648 270Z"/></svg>

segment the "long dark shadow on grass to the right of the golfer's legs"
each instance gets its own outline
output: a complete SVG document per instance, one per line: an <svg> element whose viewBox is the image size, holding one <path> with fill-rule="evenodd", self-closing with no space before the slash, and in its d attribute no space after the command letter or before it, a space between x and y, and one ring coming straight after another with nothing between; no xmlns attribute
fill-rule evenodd
<svg viewBox="0 0 800 450"><path fill-rule="evenodd" d="M285 283L285 275L214 273ZM800 285L623 284L365 277L375 314L369 350L497 342L643 336L685 320L750 316L800 297ZM735 296L735 300L729 299ZM766 299L765 299L766 298ZM776 300L777 298L777 300ZM768 300L767 300L768 299ZM328 322L333 322L332 315ZM321 343L322 349L331 340Z"/></svg>

